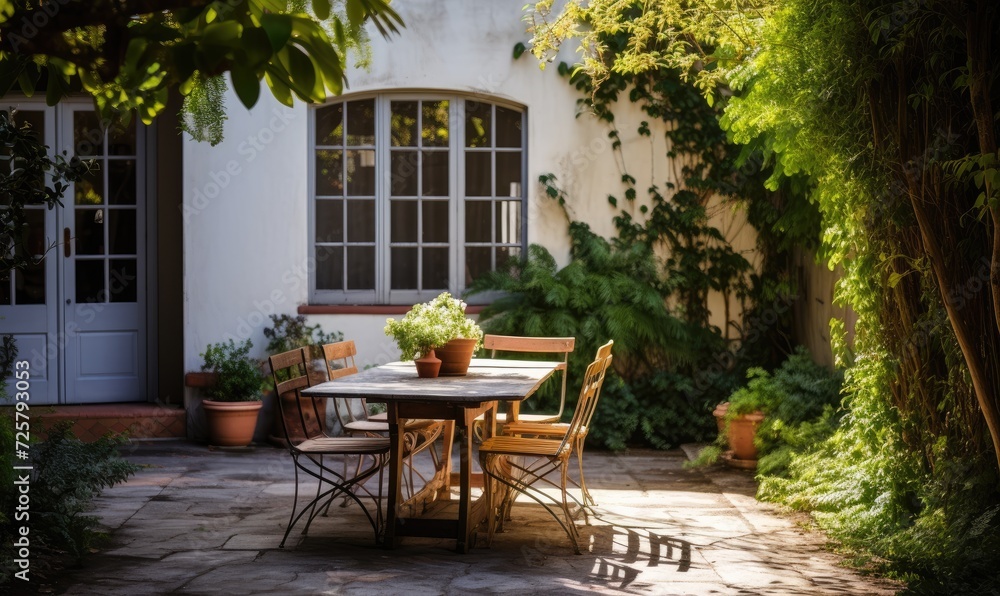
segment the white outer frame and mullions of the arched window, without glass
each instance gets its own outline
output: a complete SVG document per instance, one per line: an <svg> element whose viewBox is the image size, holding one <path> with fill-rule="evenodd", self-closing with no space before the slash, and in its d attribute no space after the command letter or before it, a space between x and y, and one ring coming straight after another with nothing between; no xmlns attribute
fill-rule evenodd
<svg viewBox="0 0 1000 596"><path fill-rule="evenodd" d="M313 107L309 110L309 234L308 251L311 263L316 259L316 114L319 109L347 102L366 99L375 100L375 289L374 290L329 290L317 289L316 273L317 267L309 268L309 302L313 305L410 305L417 302L424 302L436 296L442 289L424 290L393 290L391 289L391 269L390 269L390 215L389 215L389 189L391 185L392 170L386 164L390 163L390 105L393 101L441 101L449 102L449 193L448 193L448 248L449 248L449 279L448 287L444 288L454 295L461 295L465 289L465 275L459 272L465 271L465 107L466 102L487 103L509 110L517 111L521 114L521 181L520 181L520 242L517 244L502 243L494 238L491 244L496 249L501 246L516 246L521 255L527 251L528 237L528 201L527 201L527 110L511 102L493 97L483 97L481 95L471 95L462 93L445 92L385 92L385 93L362 93L349 96L338 97L337 101L330 102L323 106ZM477 151L490 151L496 155L503 152L503 148L496 147L496 110L493 110L494 122L491 123L492 148L477 149ZM348 123L348 128L350 124ZM514 149L511 149L514 150ZM495 190L496 176L495 159L493 162L491 188ZM506 200L517 197L499 197L490 195L488 197L476 197L476 199L496 201L499 198ZM348 222L344 221L345 233ZM494 233L496 226L493 227ZM478 244L478 243L477 243ZM480 244L482 245L482 244ZM495 257L492 266L496 267ZM346 274L346 272L345 272ZM487 302L488 296L473 297L472 302Z"/></svg>

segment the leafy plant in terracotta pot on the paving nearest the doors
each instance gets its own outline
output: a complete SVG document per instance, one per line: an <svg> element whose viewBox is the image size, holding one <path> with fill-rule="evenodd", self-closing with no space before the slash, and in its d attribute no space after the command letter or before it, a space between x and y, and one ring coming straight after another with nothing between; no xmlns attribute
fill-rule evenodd
<svg viewBox="0 0 1000 596"><path fill-rule="evenodd" d="M250 356L250 340L208 344L201 355L201 369L212 373L215 382L205 389L202 402L212 445L245 447L253 441L260 411L263 373L260 363Z"/></svg>

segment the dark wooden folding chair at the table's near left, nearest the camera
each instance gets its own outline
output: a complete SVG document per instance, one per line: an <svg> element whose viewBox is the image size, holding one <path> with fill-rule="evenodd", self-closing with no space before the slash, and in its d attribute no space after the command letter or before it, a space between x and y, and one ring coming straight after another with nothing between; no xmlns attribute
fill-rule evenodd
<svg viewBox="0 0 1000 596"><path fill-rule="evenodd" d="M271 376L274 379L275 393L278 407L281 409L282 430L288 444L289 453L292 456L292 463L295 466L295 496L292 501L292 512L289 514L288 527L285 535L281 539L279 548L285 547L288 534L292 527L308 513L305 528L302 533L309 531L317 514L317 505L325 500L333 500L339 495L344 495L356 502L368 517L369 523L375 532L375 541L381 541L384 531L384 517L382 515L382 468L389 457L389 439L386 437L330 437L320 425L317 429L315 424L306 423L306 411L311 408L316 420L322 420L315 400L302 397L302 389L311 386L307 366L309 356L306 348L298 348L275 354L268 358L271 364ZM281 396L292 393L295 399L280 399ZM294 408L293 412L286 412L285 408ZM289 428L291 424L299 428ZM333 467L324 463L325 456L350 457L358 456L362 459L357 471L353 475L348 475L346 467L344 471L338 472ZM364 460L369 460L367 466L363 465ZM377 493L364 487L364 482L375 473L378 473L379 482ZM299 474L303 473L312 476L317 480L316 496L301 509L299 502ZM324 486L329 488L324 490ZM359 492L364 493L374 504L374 514L365 506L361 500ZM298 511L298 514L296 514Z"/></svg>

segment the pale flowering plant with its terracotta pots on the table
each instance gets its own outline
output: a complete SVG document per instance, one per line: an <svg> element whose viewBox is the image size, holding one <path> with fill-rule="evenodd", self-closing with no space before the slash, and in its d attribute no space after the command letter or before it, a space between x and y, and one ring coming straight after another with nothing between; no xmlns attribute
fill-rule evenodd
<svg viewBox="0 0 1000 596"><path fill-rule="evenodd" d="M483 342L483 330L465 316L465 307L442 292L430 302L415 304L398 321L387 319L385 333L396 340L403 360L417 364L418 375L464 375Z"/></svg>

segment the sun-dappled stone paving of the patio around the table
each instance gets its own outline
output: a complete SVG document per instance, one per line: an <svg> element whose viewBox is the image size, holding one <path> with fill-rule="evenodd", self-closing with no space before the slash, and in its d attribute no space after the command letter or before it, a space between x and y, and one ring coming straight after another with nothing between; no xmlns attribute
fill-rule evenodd
<svg viewBox="0 0 1000 596"><path fill-rule="evenodd" d="M685 470L682 450L589 450L598 501L574 555L558 524L518 502L492 546L374 544L356 505L334 506L278 548L294 484L284 450L136 444L143 469L104 491L110 544L58 579L61 594L893 594L824 549L824 537L753 498L752 475Z"/></svg>

